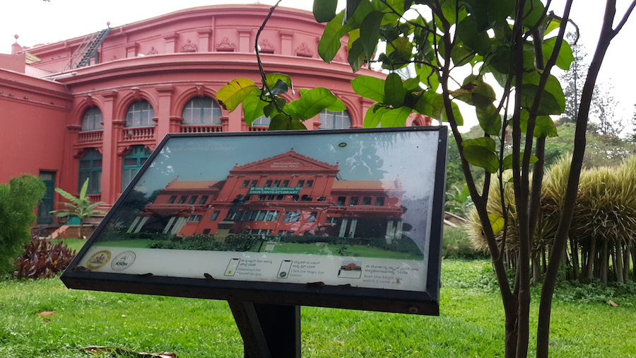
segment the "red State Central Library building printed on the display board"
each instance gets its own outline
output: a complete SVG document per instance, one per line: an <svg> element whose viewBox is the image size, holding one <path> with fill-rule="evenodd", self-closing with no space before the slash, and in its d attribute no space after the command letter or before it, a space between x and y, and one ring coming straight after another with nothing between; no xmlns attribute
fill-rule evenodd
<svg viewBox="0 0 636 358"><path fill-rule="evenodd" d="M338 180L338 165L295 151L235 166L226 180L172 180L129 232L402 236L404 190L391 181Z"/></svg>

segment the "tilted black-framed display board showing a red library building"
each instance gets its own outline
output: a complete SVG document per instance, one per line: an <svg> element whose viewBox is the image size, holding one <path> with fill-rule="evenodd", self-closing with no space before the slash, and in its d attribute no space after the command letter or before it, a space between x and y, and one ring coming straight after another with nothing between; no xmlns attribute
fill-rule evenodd
<svg viewBox="0 0 636 358"><path fill-rule="evenodd" d="M169 134L71 288L438 314L446 127Z"/></svg>

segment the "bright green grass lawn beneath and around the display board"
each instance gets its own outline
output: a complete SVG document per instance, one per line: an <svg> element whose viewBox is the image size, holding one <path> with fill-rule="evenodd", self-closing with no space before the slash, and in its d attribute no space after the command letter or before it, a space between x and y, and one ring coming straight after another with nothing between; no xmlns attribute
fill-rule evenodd
<svg viewBox="0 0 636 358"><path fill-rule="evenodd" d="M502 357L502 305L489 271L483 261L444 260L439 317L303 307L302 356ZM636 357L636 292L610 296L616 307L607 304L611 290L581 299L571 292L557 290L550 357ZM537 305L535 289L534 322ZM42 311L56 313L38 316ZM181 358L242 357L225 301L69 290L59 279L11 279L0 282L0 314L3 358L86 358L78 348L88 345L176 352Z"/></svg>

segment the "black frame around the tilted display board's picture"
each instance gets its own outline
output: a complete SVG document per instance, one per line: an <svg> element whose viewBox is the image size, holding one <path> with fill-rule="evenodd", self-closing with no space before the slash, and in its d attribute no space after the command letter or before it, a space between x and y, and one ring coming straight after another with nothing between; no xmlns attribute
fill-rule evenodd
<svg viewBox="0 0 636 358"><path fill-rule="evenodd" d="M272 141L289 140L302 142L305 136L358 135L376 136L379 134L416 134L437 133L435 136L435 183L433 185L430 221L430 238L428 240L428 263L426 266L425 288L421 291L404 291L401 289L383 289L369 287L352 287L351 284L324 284L322 281L305 284L286 282L259 282L218 279L211 275L200 278L172 277L170 275L153 275L151 272L136 275L119 272L98 272L80 265L86 260L89 248L97 243L100 233L105 231L107 223L114 213L122 207L122 202L134 190L151 163L171 139L176 138L223 138L231 137L240 142L249 142L253 138L267 137ZM399 142L393 145L399 146ZM439 315L440 301L440 267L441 243L444 206L444 183L446 176L447 127L404 127L378 129L339 129L325 131L272 131L272 132L232 132L211 134L168 134L163 142L153 151L148 161L132 180L129 187L114 204L102 224L88 239L69 268L61 276L66 287L71 289L89 289L98 291L116 291L133 294L153 294L163 296L182 296L201 299L222 299L228 301L246 301L257 304L276 304L290 306L321 306L331 308L350 308L367 311L383 311L394 313L411 313L420 315ZM408 170L408 168L407 168ZM402 175L408 175L405 172ZM169 265L169 262L165 263Z"/></svg>

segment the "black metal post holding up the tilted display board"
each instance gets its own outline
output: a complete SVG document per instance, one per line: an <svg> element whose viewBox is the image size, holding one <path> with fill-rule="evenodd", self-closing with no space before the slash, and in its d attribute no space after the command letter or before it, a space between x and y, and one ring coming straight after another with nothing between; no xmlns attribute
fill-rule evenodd
<svg viewBox="0 0 636 358"><path fill-rule="evenodd" d="M300 358L300 306L228 301L245 358Z"/></svg>

